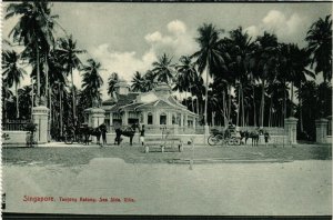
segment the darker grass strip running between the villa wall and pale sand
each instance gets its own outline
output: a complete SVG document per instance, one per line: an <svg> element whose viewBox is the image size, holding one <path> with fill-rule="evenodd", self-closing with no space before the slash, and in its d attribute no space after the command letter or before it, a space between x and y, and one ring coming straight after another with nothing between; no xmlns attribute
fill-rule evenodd
<svg viewBox="0 0 333 220"><path fill-rule="evenodd" d="M2 148L2 164L88 164L93 158L121 158L129 163L167 163L173 159L190 159L192 149L183 152L143 153L143 147L62 147L62 148ZM279 147L198 147L195 159L228 160L331 160L331 146L299 144L295 148Z"/></svg>

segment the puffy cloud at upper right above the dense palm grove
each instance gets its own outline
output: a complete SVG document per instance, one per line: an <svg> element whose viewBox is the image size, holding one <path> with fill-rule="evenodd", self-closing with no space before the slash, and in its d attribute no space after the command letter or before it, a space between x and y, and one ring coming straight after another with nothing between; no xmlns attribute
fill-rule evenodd
<svg viewBox="0 0 333 220"><path fill-rule="evenodd" d="M271 10L256 26L245 28L252 37L258 37L264 31L275 33L278 39L283 42L301 42L300 37L304 36L303 27L307 20L297 13L286 16L281 11Z"/></svg>

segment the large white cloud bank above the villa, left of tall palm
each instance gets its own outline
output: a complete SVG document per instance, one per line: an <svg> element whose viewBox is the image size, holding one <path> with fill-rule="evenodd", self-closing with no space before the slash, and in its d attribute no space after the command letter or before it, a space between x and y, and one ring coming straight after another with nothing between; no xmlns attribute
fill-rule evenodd
<svg viewBox="0 0 333 220"><path fill-rule="evenodd" d="M142 56L138 56L135 51L115 51L109 43L89 49L91 57L101 62L103 69L107 69L101 72L104 81L101 88L103 99L108 98L108 78L112 72L117 72L120 78L130 83L135 71L144 73L152 68L152 63L162 53L173 57L173 62L176 62L180 56L191 54L198 50L193 36L188 32L185 23L180 20L169 22L164 30L147 33L144 40L149 47ZM79 77L75 78L77 81L80 81Z"/></svg>

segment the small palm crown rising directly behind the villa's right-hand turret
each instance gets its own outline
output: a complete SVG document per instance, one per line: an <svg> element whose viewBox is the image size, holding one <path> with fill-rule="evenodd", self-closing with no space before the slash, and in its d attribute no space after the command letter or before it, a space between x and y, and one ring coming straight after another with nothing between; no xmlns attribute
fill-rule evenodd
<svg viewBox="0 0 333 220"><path fill-rule="evenodd" d="M155 78L159 82L170 83L173 78L173 64L172 58L169 58L165 53L159 57L158 61L152 63Z"/></svg>

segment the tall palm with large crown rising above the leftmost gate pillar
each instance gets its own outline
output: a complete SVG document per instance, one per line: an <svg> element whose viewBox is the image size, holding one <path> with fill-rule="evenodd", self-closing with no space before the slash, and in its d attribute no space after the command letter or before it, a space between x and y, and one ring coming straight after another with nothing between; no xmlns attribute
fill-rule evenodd
<svg viewBox="0 0 333 220"><path fill-rule="evenodd" d="M4 18L9 19L14 16L19 16L19 21L10 31L9 37L12 37L14 42L23 43L37 53L37 97L40 101L40 51L48 52L46 46L50 46L53 41L51 34L52 19L57 16L51 16L50 4L46 1L11 3L7 8Z"/></svg>

